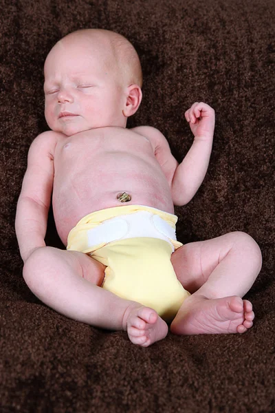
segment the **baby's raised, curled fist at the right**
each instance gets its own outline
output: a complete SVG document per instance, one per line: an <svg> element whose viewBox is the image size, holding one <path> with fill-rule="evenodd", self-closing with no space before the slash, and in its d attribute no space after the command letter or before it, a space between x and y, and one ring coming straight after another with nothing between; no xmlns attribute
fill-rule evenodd
<svg viewBox="0 0 275 413"><path fill-rule="evenodd" d="M211 138L214 134L214 109L203 102L195 102L186 110L185 117L195 138Z"/></svg>

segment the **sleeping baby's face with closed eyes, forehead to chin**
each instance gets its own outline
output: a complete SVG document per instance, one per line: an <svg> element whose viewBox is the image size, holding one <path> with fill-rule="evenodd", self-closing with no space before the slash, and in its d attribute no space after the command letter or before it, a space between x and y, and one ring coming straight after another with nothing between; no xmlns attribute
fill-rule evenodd
<svg viewBox="0 0 275 413"><path fill-rule="evenodd" d="M58 42L45 61L45 118L67 136L88 129L126 126L124 93L107 52L85 42ZM74 116L63 116L72 114Z"/></svg>

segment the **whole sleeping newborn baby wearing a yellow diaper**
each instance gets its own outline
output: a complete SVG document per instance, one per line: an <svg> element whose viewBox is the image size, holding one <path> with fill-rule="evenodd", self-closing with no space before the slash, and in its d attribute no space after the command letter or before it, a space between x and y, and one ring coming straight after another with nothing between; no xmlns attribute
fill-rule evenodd
<svg viewBox="0 0 275 413"><path fill-rule="evenodd" d="M63 315L147 347L179 335L245 332L252 304L241 297L261 270L261 251L242 232L183 245L174 205L201 185L212 149L214 110L185 112L194 142L178 164L154 127L126 129L142 100L135 49L109 30L78 30L45 61L45 118L34 139L17 204L23 277ZM45 246L52 205L67 251ZM168 323L168 324L167 324Z"/></svg>

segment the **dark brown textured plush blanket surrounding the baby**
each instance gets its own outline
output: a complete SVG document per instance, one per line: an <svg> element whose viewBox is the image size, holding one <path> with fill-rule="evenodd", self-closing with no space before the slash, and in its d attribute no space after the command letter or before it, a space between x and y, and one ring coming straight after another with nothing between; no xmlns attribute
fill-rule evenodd
<svg viewBox="0 0 275 413"><path fill-rule="evenodd" d="M274 412L273 0L1 0L1 412ZM273 25L273 27L272 27ZM43 62L65 34L105 28L136 47L143 102L128 126L164 133L180 162L192 144L184 112L216 111L210 167L178 207L181 242L252 235L263 269L245 335L166 339L149 348L126 332L67 319L22 278L14 233L28 148L47 129ZM61 246L52 213L47 244ZM42 264L41 264L42 265Z"/></svg>

